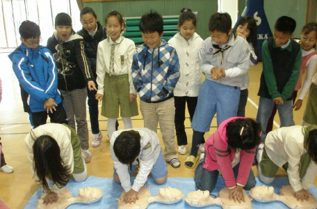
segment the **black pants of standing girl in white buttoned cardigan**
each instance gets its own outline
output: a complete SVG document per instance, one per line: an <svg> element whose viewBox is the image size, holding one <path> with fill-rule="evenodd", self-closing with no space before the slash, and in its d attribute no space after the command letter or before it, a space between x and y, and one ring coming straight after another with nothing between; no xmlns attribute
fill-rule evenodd
<svg viewBox="0 0 317 209"><path fill-rule="evenodd" d="M176 130L176 137L177 137L177 145L186 145L187 144L187 136L185 132L185 109L186 109L186 102L188 113L190 117L190 122L193 119L196 105L197 105L197 98L198 97L175 97L174 96L174 105L175 105L175 130Z"/></svg>

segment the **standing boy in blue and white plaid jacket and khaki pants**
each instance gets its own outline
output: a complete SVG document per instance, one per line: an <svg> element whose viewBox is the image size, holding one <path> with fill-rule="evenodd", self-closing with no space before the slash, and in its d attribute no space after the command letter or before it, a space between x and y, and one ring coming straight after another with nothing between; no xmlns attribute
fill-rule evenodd
<svg viewBox="0 0 317 209"><path fill-rule="evenodd" d="M163 17L156 12L143 15L139 29L144 44L133 55L133 84L140 95L140 110L144 126L156 132L158 122L165 148L163 157L174 168L181 166L175 148L174 95L179 79L179 59L176 50L161 39Z"/></svg>

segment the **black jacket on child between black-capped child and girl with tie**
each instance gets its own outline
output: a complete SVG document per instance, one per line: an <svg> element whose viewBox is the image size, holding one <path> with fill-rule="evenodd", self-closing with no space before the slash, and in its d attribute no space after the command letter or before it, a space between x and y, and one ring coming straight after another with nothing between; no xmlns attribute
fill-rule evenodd
<svg viewBox="0 0 317 209"><path fill-rule="evenodd" d="M86 56L87 56L87 59L90 61L91 70L96 79L97 78L96 57L97 57L98 43L101 42L101 40L105 40L107 38L106 28L101 26L100 22L97 21L97 31L93 37L90 36L88 31L86 31L84 28L78 31L77 34L79 34L79 36L82 36L83 40L85 40L84 45L85 45Z"/></svg>

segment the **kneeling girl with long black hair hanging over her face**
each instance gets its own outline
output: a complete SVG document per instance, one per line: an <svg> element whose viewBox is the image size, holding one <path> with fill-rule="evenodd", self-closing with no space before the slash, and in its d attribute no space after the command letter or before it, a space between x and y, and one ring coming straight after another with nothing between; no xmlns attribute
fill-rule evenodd
<svg viewBox="0 0 317 209"><path fill-rule="evenodd" d="M71 175L76 182L86 180L81 141L72 127L58 123L40 125L26 135L24 141L31 173L47 194L43 203L56 202L56 192L65 187ZM49 187L49 180L54 182L53 187Z"/></svg>

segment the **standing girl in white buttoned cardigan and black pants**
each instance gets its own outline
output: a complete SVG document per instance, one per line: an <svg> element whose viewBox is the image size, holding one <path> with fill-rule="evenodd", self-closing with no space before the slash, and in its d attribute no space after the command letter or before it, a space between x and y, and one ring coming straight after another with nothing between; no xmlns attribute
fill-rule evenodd
<svg viewBox="0 0 317 209"><path fill-rule="evenodd" d="M174 88L175 104L175 130L177 137L178 152L186 154L187 136L185 132L185 109L186 103L190 121L192 121L200 85L202 84L202 71L200 70L199 49L202 46L202 38L195 33L196 15L189 8L182 8L177 24L179 33L175 34L168 43L176 49L179 56L179 72L181 76ZM204 144L200 144L200 149Z"/></svg>

